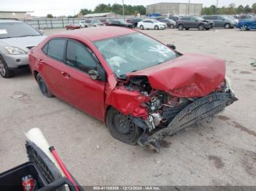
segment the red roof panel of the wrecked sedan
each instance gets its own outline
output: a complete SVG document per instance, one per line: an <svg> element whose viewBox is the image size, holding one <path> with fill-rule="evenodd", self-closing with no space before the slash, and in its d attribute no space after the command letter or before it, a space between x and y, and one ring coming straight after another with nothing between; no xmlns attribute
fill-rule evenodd
<svg viewBox="0 0 256 191"><path fill-rule="evenodd" d="M90 27L90 28L81 28L78 30L73 31L66 31L61 34L53 35L54 37L67 35L70 37L76 37L81 36L86 39L89 39L90 41L97 41L101 39L108 39L115 36L121 36L125 34L132 34L137 33L138 31L124 28L124 27L118 27L118 26L100 26L100 27Z"/></svg>

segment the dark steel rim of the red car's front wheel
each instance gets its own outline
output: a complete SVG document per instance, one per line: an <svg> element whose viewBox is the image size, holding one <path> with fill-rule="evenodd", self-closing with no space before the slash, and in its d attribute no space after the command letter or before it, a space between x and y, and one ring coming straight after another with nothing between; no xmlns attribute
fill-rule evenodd
<svg viewBox="0 0 256 191"><path fill-rule="evenodd" d="M114 119L116 130L124 139L131 139L135 134L135 124L128 116L117 113Z"/></svg>

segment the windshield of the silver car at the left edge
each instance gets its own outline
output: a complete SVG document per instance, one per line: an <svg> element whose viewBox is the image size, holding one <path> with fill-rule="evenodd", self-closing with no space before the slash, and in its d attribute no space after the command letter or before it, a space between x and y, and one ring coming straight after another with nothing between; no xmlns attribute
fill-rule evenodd
<svg viewBox="0 0 256 191"><path fill-rule="evenodd" d="M22 36L41 36L41 34L26 23L0 23L0 39Z"/></svg>

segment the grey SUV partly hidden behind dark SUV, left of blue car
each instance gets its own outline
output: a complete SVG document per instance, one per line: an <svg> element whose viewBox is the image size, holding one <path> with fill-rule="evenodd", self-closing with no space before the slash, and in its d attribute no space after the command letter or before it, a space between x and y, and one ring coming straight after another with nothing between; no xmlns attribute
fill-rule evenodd
<svg viewBox="0 0 256 191"><path fill-rule="evenodd" d="M213 21L214 26L217 27L234 28L236 26L235 21L225 15L207 15L203 18Z"/></svg>

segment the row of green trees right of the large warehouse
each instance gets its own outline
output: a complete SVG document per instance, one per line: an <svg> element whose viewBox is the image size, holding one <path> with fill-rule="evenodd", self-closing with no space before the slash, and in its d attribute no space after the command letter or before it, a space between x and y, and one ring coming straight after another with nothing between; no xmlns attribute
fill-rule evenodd
<svg viewBox="0 0 256 191"><path fill-rule="evenodd" d="M249 7L249 5L246 5L246 7L243 5L236 7L236 4L230 4L228 7L218 7L217 9L215 5L211 5L211 7L203 7L202 12L203 15L236 15L242 13L256 13L256 3L252 4L252 7Z"/></svg>

